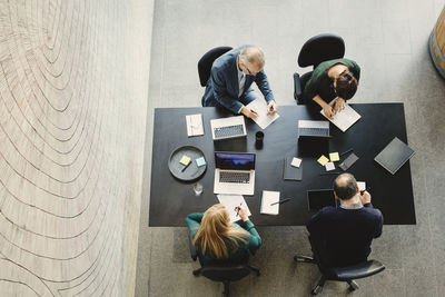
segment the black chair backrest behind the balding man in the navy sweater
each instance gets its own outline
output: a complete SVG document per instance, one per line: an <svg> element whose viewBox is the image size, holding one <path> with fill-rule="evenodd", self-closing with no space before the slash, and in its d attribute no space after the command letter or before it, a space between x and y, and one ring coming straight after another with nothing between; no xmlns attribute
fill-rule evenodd
<svg viewBox="0 0 445 297"><path fill-rule="evenodd" d="M367 260L354 266L334 267L327 270L329 279L347 281L376 275L385 270L385 266L377 260Z"/></svg>

